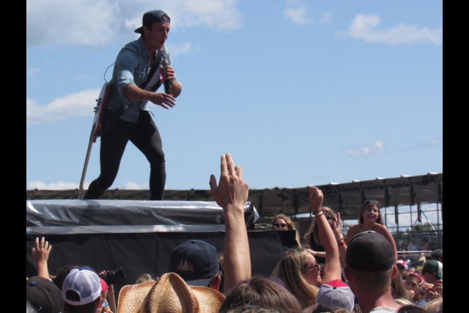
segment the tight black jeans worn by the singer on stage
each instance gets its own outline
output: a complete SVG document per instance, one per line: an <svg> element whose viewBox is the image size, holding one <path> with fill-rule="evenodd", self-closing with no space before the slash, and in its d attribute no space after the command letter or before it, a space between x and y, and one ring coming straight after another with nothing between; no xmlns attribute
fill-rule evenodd
<svg viewBox="0 0 469 313"><path fill-rule="evenodd" d="M111 115L111 110L103 112L103 125ZM119 119L101 136L101 174L89 185L84 199L99 199L112 185L129 140L150 162L150 200L163 200L166 182L165 154L156 125L149 112L143 110L140 110L136 123Z"/></svg>

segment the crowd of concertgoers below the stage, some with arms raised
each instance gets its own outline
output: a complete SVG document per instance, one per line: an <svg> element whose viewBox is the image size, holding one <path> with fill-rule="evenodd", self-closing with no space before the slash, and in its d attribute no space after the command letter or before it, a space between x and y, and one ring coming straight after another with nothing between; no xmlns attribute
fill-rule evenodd
<svg viewBox="0 0 469 313"><path fill-rule="evenodd" d="M104 271L65 266L49 279L52 246L37 238L32 257L38 275L26 280L27 312L443 312L442 250L422 268L398 269L405 262L397 260L378 203L365 201L360 224L344 236L340 214L322 206L317 187L310 187L315 217L306 245L288 250L270 276L252 276L250 254L256 252L249 249L244 222L249 185L230 154L221 156L220 167L210 187L224 212L223 254L207 242L189 240L172 251L167 273L157 278L143 273L120 290L116 303ZM274 217L272 224L294 229L286 216Z"/></svg>

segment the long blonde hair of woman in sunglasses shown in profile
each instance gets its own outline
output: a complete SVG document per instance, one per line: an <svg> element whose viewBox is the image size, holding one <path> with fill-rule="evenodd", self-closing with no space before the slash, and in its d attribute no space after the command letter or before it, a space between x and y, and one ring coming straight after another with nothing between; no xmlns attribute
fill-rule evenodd
<svg viewBox="0 0 469 313"><path fill-rule="evenodd" d="M288 290L298 299L303 309L316 302L319 287L309 284L303 277L302 271L306 269L306 256L309 249L293 249L287 251L278 261L272 276L281 279Z"/></svg>

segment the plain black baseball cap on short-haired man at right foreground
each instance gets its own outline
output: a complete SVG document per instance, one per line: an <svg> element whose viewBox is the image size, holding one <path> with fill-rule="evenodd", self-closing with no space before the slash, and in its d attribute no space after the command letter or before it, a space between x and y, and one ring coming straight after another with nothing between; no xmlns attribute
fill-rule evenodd
<svg viewBox="0 0 469 313"><path fill-rule="evenodd" d="M379 272L394 265L391 243L380 233L368 230L350 240L345 254L347 267L367 272Z"/></svg>

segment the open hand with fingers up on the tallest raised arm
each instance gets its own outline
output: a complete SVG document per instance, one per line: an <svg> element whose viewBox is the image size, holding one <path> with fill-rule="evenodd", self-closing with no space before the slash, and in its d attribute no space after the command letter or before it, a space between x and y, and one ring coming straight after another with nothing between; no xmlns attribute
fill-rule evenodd
<svg viewBox="0 0 469 313"><path fill-rule="evenodd" d="M231 154L221 156L220 180L216 184L216 178L210 176L210 189L212 197L223 209L228 207L243 207L248 201L249 184L243 181L243 170L240 166L235 166Z"/></svg>

